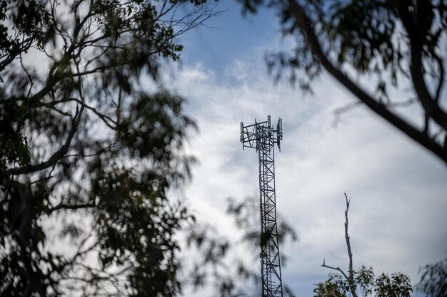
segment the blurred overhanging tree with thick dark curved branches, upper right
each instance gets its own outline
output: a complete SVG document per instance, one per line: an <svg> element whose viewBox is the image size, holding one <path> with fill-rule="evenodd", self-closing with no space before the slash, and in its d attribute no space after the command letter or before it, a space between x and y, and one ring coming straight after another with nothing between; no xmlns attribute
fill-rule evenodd
<svg viewBox="0 0 447 297"><path fill-rule="evenodd" d="M292 51L267 57L278 77L288 69L309 90L326 70L358 103L447 164L446 1L239 1L251 12L268 3L283 35L296 41ZM407 100L392 98L399 87L409 88Z"/></svg>

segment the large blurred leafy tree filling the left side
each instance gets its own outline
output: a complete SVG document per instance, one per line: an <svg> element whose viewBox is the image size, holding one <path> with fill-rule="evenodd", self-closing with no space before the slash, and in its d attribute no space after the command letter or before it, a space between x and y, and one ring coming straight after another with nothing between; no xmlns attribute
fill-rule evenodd
<svg viewBox="0 0 447 297"><path fill-rule="evenodd" d="M166 190L189 178L194 123L159 64L214 14L204 0L0 1L1 296L179 293L174 234L191 217Z"/></svg>

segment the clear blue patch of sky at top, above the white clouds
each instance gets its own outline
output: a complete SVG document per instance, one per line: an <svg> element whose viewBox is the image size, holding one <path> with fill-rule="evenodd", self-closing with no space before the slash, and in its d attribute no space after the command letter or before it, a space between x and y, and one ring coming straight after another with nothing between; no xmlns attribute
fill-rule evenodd
<svg viewBox="0 0 447 297"><path fill-rule="evenodd" d="M263 8L255 16L242 17L241 5L236 1L218 1L216 11L222 14L180 37L184 63L202 63L222 71L241 55L277 38L277 21L271 9Z"/></svg>

